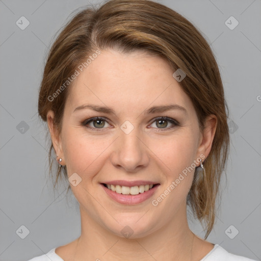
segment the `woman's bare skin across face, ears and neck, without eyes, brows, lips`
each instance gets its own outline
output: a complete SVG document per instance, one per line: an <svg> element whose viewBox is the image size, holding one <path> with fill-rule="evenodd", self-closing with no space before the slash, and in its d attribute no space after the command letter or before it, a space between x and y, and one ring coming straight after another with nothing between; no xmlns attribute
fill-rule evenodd
<svg viewBox="0 0 261 261"><path fill-rule="evenodd" d="M48 112L49 132L61 164L66 165L68 177L77 173L82 178L76 187L71 185L80 204L81 236L56 249L65 261L196 261L213 249L210 242L193 239L188 226L186 198L195 169L157 206L151 204L193 161L199 166L201 154L206 159L216 132L217 118L211 115L204 136L200 134L193 103L173 72L162 58L144 51L123 55L102 50L70 87L60 134L53 125L53 112ZM115 114L90 109L73 112L86 103L113 108ZM144 114L152 106L170 103L184 107L187 114L178 110ZM164 116L180 125L156 124L159 121L154 119ZM107 117L111 122L102 129L97 121L88 124L99 132L82 124L91 117ZM134 126L129 134L120 128L126 120ZM161 185L152 198L123 205L100 187L100 182L115 179L152 180ZM126 225L133 230L131 238L121 233Z"/></svg>

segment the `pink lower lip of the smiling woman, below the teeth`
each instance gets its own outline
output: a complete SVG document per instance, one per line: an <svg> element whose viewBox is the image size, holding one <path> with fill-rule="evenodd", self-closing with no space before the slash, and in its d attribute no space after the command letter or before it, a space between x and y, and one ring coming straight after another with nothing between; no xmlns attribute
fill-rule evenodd
<svg viewBox="0 0 261 261"><path fill-rule="evenodd" d="M157 184L150 190L145 191L143 193L139 193L138 195L124 195L124 194L119 194L115 191L109 190L107 187L103 186L102 184L100 184L100 185L103 188L103 190L105 190L107 195L109 195L115 201L117 201L121 204L125 204L125 205L134 205L134 204L139 204L139 203L145 201L146 199L150 198L155 193L155 191L158 189L158 187L160 186L160 184Z"/></svg>

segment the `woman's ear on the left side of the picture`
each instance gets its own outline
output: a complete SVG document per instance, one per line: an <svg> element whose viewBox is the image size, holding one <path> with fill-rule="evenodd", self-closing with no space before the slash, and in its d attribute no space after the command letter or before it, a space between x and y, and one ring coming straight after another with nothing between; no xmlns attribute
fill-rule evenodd
<svg viewBox="0 0 261 261"><path fill-rule="evenodd" d="M56 155L58 155L58 159L62 158L62 164L61 165L65 165L64 164L65 160L64 160L61 138L60 138L60 135L58 133L58 128L54 124L54 112L48 111L46 118L47 118L48 129L49 129L50 136L51 136L51 141L53 142L53 146L54 146Z"/></svg>

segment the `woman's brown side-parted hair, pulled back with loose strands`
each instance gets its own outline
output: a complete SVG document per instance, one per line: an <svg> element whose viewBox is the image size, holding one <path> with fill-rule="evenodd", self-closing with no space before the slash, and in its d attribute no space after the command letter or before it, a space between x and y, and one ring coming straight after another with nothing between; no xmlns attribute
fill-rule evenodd
<svg viewBox="0 0 261 261"><path fill-rule="evenodd" d="M39 116L46 122L47 112L53 111L54 125L59 134L71 86L67 83L68 77L75 73L79 65L86 64L86 59L97 49L114 49L123 54L144 50L159 55L173 71L181 69L186 73L179 86L193 103L201 134L206 117L216 115L216 133L211 151L204 161L205 175L202 178L196 168L187 197L187 205L194 216L201 225L206 223L206 239L215 223L216 199L229 147L228 108L220 71L210 45L188 19L150 0L111 0L98 8L88 6L78 11L66 23L49 50L39 90ZM61 88L65 82L68 87ZM58 90L62 91L58 93ZM51 143L49 173L53 172L53 149ZM54 187L62 172L68 179L66 166L58 168L57 165ZM70 185L67 192L69 189Z"/></svg>

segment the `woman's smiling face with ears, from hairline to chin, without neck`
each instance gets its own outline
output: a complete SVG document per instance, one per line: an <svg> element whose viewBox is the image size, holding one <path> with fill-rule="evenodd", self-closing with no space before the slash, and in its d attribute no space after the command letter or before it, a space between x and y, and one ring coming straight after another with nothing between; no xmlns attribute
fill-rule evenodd
<svg viewBox="0 0 261 261"><path fill-rule="evenodd" d="M195 167L211 149L215 128L207 128L203 139L193 104L173 72L162 58L142 51L102 50L70 87L60 136L52 131L48 113L82 219L120 237L124 227L135 238L184 222ZM126 194L148 187L139 185L155 186L125 195L102 184L125 185Z"/></svg>

